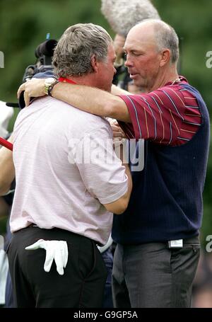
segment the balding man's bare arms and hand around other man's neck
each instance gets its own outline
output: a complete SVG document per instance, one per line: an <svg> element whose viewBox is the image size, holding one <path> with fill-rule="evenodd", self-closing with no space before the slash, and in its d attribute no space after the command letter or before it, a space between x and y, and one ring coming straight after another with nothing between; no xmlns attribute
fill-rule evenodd
<svg viewBox="0 0 212 322"><path fill-rule="evenodd" d="M30 98L45 96L45 79L32 79L18 88L18 98L24 91L25 104L30 104ZM116 94L116 95L113 95ZM57 83L52 96L79 110L99 116L111 117L123 122L131 122L128 108L120 94L128 94L121 88L112 86L112 94L91 86L73 85L65 82Z"/></svg>

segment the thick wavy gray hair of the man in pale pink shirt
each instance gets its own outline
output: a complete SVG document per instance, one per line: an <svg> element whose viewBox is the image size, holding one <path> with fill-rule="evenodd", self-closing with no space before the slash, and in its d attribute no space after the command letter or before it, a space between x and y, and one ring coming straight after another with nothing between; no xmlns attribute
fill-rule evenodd
<svg viewBox="0 0 212 322"><path fill-rule="evenodd" d="M112 38L100 25L71 25L61 36L54 50L54 74L66 77L91 73L91 57L95 55L98 62L105 62L111 43Z"/></svg>

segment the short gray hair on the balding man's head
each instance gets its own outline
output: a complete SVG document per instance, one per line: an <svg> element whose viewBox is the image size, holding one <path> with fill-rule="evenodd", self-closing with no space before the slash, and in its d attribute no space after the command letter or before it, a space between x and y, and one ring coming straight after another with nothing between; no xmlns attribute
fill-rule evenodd
<svg viewBox="0 0 212 322"><path fill-rule="evenodd" d="M165 48L169 49L171 52L170 61L172 63L177 62L179 59L179 38L175 29L164 21L158 21L156 19L146 19L141 24L148 21L153 24L158 51L162 51Z"/></svg>

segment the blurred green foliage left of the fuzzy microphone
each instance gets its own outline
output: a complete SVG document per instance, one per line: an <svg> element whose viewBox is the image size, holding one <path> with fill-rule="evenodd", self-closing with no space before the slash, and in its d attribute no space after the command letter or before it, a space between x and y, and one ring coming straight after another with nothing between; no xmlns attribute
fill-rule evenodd
<svg viewBox="0 0 212 322"><path fill-rule="evenodd" d="M87 0L1 0L0 50L5 57L5 67L0 69L1 100L16 100L25 67L35 63L35 48L45 41L46 34L58 39L69 25L79 22L108 28L100 14L99 0L92 4Z"/></svg>

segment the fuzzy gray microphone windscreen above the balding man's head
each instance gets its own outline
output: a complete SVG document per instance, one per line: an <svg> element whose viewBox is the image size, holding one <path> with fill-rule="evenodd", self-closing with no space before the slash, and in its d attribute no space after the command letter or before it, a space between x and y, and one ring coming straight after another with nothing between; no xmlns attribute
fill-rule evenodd
<svg viewBox="0 0 212 322"><path fill-rule="evenodd" d="M124 36L144 19L160 19L149 0L102 0L101 11L115 33Z"/></svg>

